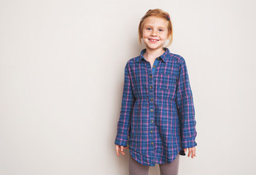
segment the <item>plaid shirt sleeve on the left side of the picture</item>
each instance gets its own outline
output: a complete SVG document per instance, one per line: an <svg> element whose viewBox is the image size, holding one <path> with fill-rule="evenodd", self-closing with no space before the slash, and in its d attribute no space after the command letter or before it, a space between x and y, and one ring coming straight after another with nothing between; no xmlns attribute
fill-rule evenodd
<svg viewBox="0 0 256 175"><path fill-rule="evenodd" d="M128 71L128 63L125 66L125 80L123 87L122 106L120 110L120 118L117 123L117 136L115 144L128 147L128 135L130 132L131 114L135 101L131 88L131 75Z"/></svg>

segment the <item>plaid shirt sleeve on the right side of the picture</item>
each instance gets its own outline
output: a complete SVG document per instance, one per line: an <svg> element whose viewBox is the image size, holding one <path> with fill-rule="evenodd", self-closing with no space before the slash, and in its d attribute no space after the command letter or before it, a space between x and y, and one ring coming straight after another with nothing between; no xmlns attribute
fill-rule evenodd
<svg viewBox="0 0 256 175"><path fill-rule="evenodd" d="M184 58L179 69L177 82L177 108L179 111L180 133L182 137L182 148L195 147L195 108L193 104L193 93L190 88L187 66Z"/></svg>

